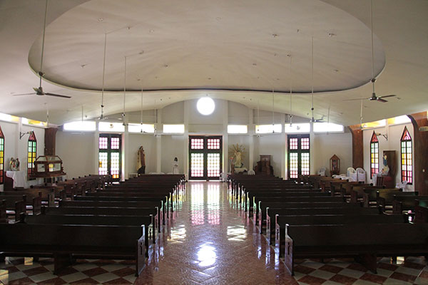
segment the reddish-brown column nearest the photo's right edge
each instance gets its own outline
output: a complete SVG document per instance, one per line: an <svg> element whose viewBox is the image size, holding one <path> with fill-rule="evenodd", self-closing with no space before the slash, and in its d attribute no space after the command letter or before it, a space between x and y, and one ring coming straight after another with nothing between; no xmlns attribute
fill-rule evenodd
<svg viewBox="0 0 428 285"><path fill-rule="evenodd" d="M428 195L428 132L419 130L421 127L428 126L427 112L407 116L412 120L414 129L414 191L419 191L419 195Z"/></svg>

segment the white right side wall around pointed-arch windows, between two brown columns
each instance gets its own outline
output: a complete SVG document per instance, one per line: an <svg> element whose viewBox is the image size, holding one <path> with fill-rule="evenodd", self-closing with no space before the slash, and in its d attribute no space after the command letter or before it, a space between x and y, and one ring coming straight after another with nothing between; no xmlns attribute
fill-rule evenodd
<svg viewBox="0 0 428 285"><path fill-rule="evenodd" d="M384 150L395 150L395 157L397 159L397 174L395 175L395 182L401 182L401 161L400 161L400 139L404 131L404 126L409 130L410 136L412 137L412 150L414 154L414 130L411 123L401 124L401 125L387 125L385 127L373 128L370 130L363 130L363 146L364 146L364 168L367 172L367 182L370 180L370 140L372 139L373 131L374 133L387 134L388 139L384 138L382 135L377 136L379 140L379 172L382 170L382 154ZM412 154L412 157L414 156ZM414 163L414 161L413 161ZM414 191L413 185L407 185L408 190Z"/></svg>

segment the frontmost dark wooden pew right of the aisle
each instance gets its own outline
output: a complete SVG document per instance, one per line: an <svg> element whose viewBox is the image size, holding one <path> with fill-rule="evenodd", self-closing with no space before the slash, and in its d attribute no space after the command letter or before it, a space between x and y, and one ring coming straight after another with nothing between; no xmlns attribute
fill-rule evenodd
<svg viewBox="0 0 428 285"><path fill-rule="evenodd" d="M428 254L428 224L288 225L285 266L294 274L295 259L354 257L377 272L377 257Z"/></svg>

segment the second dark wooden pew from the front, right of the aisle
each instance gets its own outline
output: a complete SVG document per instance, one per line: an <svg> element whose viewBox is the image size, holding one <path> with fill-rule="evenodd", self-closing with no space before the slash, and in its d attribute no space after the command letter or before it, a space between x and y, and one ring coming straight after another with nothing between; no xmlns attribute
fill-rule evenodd
<svg viewBox="0 0 428 285"><path fill-rule="evenodd" d="M280 256L283 254L285 242L285 227L302 224L399 224L407 222L403 214L378 214L349 212L347 214L314 214L314 215L275 215L275 246L280 249ZM268 232L267 232L268 233ZM267 234L270 242L272 236Z"/></svg>

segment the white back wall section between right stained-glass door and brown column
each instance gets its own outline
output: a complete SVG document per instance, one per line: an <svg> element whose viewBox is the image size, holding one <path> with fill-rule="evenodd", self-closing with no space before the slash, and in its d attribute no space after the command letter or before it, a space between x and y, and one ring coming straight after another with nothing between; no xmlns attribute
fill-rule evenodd
<svg viewBox="0 0 428 285"><path fill-rule="evenodd" d="M315 173L320 168L327 169L330 175L330 157L340 158L340 173L346 173L347 167L352 167L352 134L346 133L313 133L311 164Z"/></svg>

